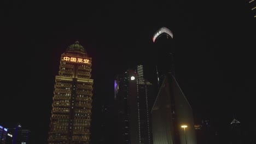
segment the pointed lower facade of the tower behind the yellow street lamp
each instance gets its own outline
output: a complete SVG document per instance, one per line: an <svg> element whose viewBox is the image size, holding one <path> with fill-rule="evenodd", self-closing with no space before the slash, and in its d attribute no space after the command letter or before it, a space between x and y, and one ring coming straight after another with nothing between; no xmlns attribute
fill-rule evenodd
<svg viewBox="0 0 256 144"><path fill-rule="evenodd" d="M196 144L191 106L171 73L165 75L152 109L154 144Z"/></svg>

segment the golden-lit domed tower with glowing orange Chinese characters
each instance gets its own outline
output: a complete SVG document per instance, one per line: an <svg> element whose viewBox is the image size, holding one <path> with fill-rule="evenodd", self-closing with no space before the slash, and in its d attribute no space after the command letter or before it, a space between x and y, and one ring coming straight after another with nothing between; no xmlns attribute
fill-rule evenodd
<svg viewBox="0 0 256 144"><path fill-rule="evenodd" d="M89 143L92 107L91 57L78 41L60 59L48 143Z"/></svg>

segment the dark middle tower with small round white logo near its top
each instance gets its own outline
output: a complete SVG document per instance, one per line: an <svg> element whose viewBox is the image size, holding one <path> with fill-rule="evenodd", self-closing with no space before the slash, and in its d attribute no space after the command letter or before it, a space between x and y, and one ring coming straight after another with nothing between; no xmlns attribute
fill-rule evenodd
<svg viewBox="0 0 256 144"><path fill-rule="evenodd" d="M118 143L152 143L149 98L153 86L143 77L143 65L129 69L115 80L118 109Z"/></svg>

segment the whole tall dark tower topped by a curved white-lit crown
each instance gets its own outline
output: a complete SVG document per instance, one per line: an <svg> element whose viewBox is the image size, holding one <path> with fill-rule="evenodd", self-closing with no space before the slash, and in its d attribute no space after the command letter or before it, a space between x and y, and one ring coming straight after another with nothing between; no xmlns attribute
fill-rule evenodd
<svg viewBox="0 0 256 144"><path fill-rule="evenodd" d="M154 34L153 42L156 43L155 40L162 34L173 38L172 32L163 27ZM151 111L153 143L196 144L193 111L174 77L173 50L170 50L173 47L167 45L168 43L161 45L162 40L157 41L156 49L162 49L161 53L158 53L162 77L159 80L159 92Z"/></svg>

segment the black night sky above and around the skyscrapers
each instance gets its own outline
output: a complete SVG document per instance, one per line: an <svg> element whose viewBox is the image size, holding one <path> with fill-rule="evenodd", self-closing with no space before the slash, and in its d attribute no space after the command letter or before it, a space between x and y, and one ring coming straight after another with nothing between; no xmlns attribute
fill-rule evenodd
<svg viewBox="0 0 256 144"><path fill-rule="evenodd" d="M36 143L46 143L55 75L69 45L80 41L92 57L97 119L113 98L114 76L155 61L152 37L163 26L173 32L176 79L195 119L256 120L256 23L246 1L14 0L2 7L0 124L21 122Z"/></svg>

